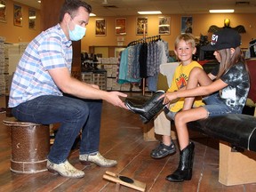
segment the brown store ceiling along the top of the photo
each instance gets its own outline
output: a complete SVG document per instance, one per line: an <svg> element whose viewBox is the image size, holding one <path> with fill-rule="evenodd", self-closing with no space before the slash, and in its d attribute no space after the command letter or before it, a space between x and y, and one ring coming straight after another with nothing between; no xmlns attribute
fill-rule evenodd
<svg viewBox="0 0 256 192"><path fill-rule="evenodd" d="M14 0L40 9L37 0ZM43 0L44 1L44 0ZM54 0L56 1L56 0ZM235 13L256 13L256 0L84 0L97 16L131 16L138 11L163 14L209 13L209 9L235 9ZM107 4L102 4L107 2ZM239 2L240 4L237 4ZM113 7L114 6L114 7Z"/></svg>

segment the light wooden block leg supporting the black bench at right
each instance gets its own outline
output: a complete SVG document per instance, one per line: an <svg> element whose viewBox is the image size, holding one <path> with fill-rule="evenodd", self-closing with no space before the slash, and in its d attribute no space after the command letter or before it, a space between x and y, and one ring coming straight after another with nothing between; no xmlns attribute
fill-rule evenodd
<svg viewBox="0 0 256 192"><path fill-rule="evenodd" d="M228 143L220 142L220 183L232 186L256 182L256 153L231 149Z"/></svg>

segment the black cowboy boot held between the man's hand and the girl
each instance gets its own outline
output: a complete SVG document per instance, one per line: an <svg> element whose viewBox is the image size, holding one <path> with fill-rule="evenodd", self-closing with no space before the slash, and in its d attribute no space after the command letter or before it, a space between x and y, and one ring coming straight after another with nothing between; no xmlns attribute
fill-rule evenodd
<svg viewBox="0 0 256 192"><path fill-rule="evenodd" d="M131 100L126 99L124 104L133 113L139 114L142 122L147 124L156 114L158 114L164 108L164 98L158 100L164 91L155 92L152 97L142 105L135 105Z"/></svg>

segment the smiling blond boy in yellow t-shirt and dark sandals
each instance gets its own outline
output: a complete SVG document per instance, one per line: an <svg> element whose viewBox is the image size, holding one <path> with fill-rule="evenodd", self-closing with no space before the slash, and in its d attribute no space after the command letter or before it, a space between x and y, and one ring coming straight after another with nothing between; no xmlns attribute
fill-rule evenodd
<svg viewBox="0 0 256 192"><path fill-rule="evenodd" d="M167 92L176 92L187 85L188 76L193 68L202 68L202 66L192 60L193 54L196 53L196 42L194 36L190 34L181 34L175 40L175 54L180 60L180 65L175 69L172 77L171 87ZM183 108L184 98L172 103L169 108L164 108L154 120L156 134L163 135L159 146L152 150L150 156L153 158L163 158L174 154L176 148L171 138L170 121L174 119L175 114ZM201 98L194 102L194 106L202 106L204 103Z"/></svg>

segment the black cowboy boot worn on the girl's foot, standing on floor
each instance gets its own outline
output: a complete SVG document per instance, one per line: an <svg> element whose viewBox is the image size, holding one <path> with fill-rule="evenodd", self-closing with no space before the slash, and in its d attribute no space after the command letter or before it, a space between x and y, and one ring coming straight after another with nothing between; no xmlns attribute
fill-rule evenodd
<svg viewBox="0 0 256 192"><path fill-rule="evenodd" d="M172 182L181 182L191 180L194 160L195 144L190 142L186 148L180 151L180 164L178 169L166 177L166 180Z"/></svg>

